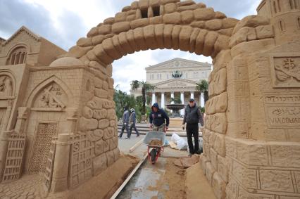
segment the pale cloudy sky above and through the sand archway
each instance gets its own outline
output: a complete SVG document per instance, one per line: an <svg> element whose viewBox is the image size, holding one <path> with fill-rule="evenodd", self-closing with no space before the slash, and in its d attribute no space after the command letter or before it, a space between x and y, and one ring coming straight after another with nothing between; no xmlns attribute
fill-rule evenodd
<svg viewBox="0 0 300 199"><path fill-rule="evenodd" d="M256 14L261 0L196 0L227 17L241 19ZM77 39L113 17L130 0L0 0L0 37L8 39L22 25L68 51ZM211 58L172 50L139 51L113 62L115 86L129 92L132 80L146 79L144 68L172 58L187 58L211 63Z"/></svg>

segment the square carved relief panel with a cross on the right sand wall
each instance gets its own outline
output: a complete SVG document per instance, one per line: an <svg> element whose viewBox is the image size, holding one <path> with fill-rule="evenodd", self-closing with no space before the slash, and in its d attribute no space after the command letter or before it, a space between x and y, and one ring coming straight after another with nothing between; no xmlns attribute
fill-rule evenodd
<svg viewBox="0 0 300 199"><path fill-rule="evenodd" d="M300 87L300 57L274 58L275 87Z"/></svg>

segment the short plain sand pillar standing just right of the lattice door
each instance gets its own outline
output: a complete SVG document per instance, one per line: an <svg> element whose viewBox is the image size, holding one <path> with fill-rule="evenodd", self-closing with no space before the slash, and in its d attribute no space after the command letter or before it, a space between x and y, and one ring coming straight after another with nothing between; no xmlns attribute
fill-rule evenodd
<svg viewBox="0 0 300 199"><path fill-rule="evenodd" d="M60 134L58 135L58 141L56 141L51 192L65 191L68 189L69 137L68 134Z"/></svg>

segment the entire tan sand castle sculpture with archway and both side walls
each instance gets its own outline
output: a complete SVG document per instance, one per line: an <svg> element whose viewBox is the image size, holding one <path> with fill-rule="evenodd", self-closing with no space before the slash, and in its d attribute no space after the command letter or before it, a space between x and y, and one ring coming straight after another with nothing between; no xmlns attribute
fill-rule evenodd
<svg viewBox="0 0 300 199"><path fill-rule="evenodd" d="M21 27L0 40L0 181L39 172L56 192L104 171L120 154L111 63L180 49L213 58L201 164L216 197L299 198L299 8L263 0L236 20L194 1L134 1L68 52Z"/></svg>

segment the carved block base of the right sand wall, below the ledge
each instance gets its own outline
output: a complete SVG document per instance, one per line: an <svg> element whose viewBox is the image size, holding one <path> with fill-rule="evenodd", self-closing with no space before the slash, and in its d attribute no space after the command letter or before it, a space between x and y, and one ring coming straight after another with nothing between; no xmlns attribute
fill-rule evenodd
<svg viewBox="0 0 300 199"><path fill-rule="evenodd" d="M228 186L227 195L237 191L237 198L259 198L261 194L267 197L276 192L280 198L283 195L299 198L299 148L298 143L227 138L230 184L239 184L238 189Z"/></svg>

